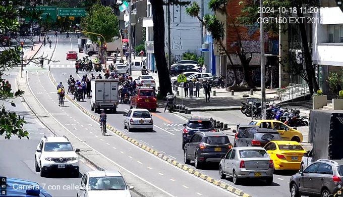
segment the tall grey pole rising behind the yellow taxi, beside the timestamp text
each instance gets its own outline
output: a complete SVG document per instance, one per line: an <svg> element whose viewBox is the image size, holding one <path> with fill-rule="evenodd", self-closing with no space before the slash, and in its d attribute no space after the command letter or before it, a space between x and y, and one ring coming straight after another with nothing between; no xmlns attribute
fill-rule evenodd
<svg viewBox="0 0 343 197"><path fill-rule="evenodd" d="M263 8L263 0L260 0L260 8ZM260 18L263 19L263 13L260 12ZM266 119L266 80L264 66L264 30L263 22L260 23L260 42L261 42L261 107L262 119Z"/></svg>

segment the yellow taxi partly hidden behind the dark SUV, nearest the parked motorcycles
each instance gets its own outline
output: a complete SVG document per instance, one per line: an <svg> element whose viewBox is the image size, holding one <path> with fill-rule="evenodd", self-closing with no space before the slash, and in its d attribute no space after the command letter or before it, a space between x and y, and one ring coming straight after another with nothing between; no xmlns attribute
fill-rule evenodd
<svg viewBox="0 0 343 197"><path fill-rule="evenodd" d="M265 129L275 129L280 134L282 140L303 141L303 134L300 131L278 120L253 120L249 125L256 125Z"/></svg>

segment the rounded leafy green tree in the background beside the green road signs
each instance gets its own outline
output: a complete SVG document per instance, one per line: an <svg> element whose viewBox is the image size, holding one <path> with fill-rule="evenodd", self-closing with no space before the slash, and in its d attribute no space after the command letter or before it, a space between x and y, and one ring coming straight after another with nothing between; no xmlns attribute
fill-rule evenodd
<svg viewBox="0 0 343 197"><path fill-rule="evenodd" d="M113 37L119 35L118 18L113 14L110 7L105 7L100 4L95 4L87 12L87 16L81 20L83 30L98 33L103 35L106 42L112 41ZM97 36L88 34L88 37L93 41L97 41ZM103 42L103 38L100 38Z"/></svg>

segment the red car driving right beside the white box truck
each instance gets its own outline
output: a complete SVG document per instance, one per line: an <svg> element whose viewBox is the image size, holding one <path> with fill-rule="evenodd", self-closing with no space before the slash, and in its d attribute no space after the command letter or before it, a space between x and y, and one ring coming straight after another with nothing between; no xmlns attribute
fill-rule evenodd
<svg viewBox="0 0 343 197"><path fill-rule="evenodd" d="M131 96L130 109L132 108L148 109L156 112L157 98L152 88L137 87Z"/></svg>

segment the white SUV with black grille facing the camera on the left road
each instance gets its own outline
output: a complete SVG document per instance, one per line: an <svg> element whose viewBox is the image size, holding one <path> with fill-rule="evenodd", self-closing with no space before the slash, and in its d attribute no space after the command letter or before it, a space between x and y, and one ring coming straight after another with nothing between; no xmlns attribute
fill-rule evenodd
<svg viewBox="0 0 343 197"><path fill-rule="evenodd" d="M79 177L79 157L66 136L42 137L35 153L36 172L44 177L49 172L66 171Z"/></svg>

